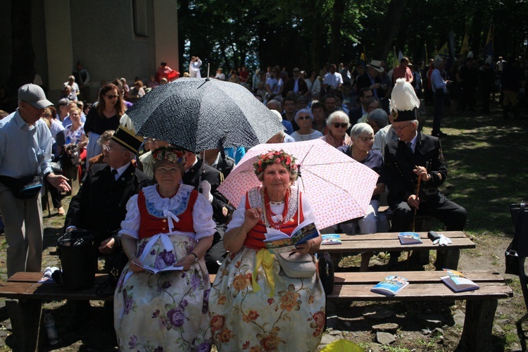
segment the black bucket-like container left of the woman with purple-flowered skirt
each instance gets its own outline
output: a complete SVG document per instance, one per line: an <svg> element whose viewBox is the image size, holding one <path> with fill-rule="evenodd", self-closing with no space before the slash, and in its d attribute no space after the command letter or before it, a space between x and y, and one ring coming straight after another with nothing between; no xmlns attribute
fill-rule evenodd
<svg viewBox="0 0 528 352"><path fill-rule="evenodd" d="M97 232L73 230L58 239L62 282L65 289L91 289L95 281L94 237Z"/></svg>

